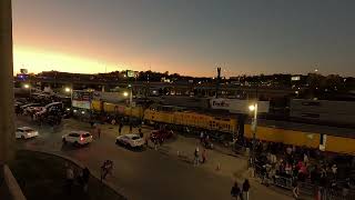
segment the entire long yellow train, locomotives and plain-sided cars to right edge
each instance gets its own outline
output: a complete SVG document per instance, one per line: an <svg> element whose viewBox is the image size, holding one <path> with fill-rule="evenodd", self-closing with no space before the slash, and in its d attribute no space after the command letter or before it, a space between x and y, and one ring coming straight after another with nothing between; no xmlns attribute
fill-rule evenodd
<svg viewBox="0 0 355 200"><path fill-rule="evenodd" d="M170 129L200 133L215 133L220 140L232 141L239 136L253 139L251 124L240 121L235 116L211 114L186 110L184 108L151 104L149 107L136 104L130 108L122 103L111 103L99 100L91 101L93 112L108 114L131 116L144 121L145 124L168 126ZM298 123L302 126L302 123ZM243 128L241 128L243 127ZM261 141L282 142L298 147L321 149L323 151L355 156L355 138L351 134L342 136L334 128L332 131L291 130L286 128L258 126L256 139Z"/></svg>

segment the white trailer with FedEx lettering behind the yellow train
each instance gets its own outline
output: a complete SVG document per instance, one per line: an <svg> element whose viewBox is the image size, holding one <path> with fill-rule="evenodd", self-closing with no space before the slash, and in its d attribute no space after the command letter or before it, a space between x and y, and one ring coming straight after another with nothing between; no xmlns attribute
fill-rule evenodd
<svg viewBox="0 0 355 200"><path fill-rule="evenodd" d="M211 99L210 106L212 109L229 110L232 113L250 113L248 106L253 104L252 100L240 100L240 99ZM257 101L257 112L268 112L268 101Z"/></svg>

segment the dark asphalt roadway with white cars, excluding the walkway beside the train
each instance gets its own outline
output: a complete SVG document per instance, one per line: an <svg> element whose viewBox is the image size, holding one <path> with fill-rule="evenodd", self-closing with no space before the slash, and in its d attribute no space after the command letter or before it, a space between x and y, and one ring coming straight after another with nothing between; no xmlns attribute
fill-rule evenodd
<svg viewBox="0 0 355 200"><path fill-rule="evenodd" d="M100 166L104 160L113 160L113 177L108 177L108 181L129 199L231 199L232 178L201 170L199 167L193 167L191 163L152 149L138 151L118 146L115 144L116 128L103 131L100 139L94 134L95 140L89 146L74 148L63 146L61 136L78 129L92 131L89 124L64 120L59 128L53 130L47 126L41 128L33 126L26 117L19 117L16 123L17 127L31 124L40 131L40 136L36 139L18 140L18 147L44 150L74 158L97 174L100 173ZM251 199L288 198L258 189L251 193Z"/></svg>

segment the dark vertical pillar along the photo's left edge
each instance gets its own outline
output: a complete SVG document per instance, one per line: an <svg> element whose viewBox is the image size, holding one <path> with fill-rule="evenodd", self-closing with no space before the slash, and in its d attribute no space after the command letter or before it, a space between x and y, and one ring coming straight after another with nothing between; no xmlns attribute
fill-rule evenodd
<svg viewBox="0 0 355 200"><path fill-rule="evenodd" d="M13 53L11 0L0 1L0 166L13 153Z"/></svg>

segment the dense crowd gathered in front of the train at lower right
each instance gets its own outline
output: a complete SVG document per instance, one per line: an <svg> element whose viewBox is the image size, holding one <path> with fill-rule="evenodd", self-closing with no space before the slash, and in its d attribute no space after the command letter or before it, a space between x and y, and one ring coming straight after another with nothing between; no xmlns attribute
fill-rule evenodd
<svg viewBox="0 0 355 200"><path fill-rule="evenodd" d="M245 140L244 147L252 149L252 140ZM253 160L251 160L253 162ZM291 180L294 196L298 192L298 182L331 190L347 196L355 188L352 169L355 169L355 158L352 156L335 156L317 149L287 146L276 142L256 141L255 172L262 178L262 183L275 182L276 178Z"/></svg>

